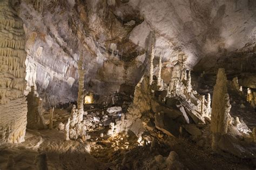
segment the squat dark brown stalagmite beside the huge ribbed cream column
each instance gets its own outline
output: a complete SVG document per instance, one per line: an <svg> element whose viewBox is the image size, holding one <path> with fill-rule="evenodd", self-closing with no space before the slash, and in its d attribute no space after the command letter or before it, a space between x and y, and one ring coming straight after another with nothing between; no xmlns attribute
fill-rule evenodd
<svg viewBox="0 0 256 170"><path fill-rule="evenodd" d="M28 101L28 114L26 116L28 124L26 127L29 129L45 129L42 100L35 95L34 87L31 87L26 100Z"/></svg>

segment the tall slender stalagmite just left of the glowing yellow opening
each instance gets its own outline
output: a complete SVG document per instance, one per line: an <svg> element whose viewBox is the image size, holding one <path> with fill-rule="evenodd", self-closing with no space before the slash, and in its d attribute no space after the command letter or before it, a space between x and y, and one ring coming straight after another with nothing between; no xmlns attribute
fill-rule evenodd
<svg viewBox="0 0 256 170"><path fill-rule="evenodd" d="M82 60L79 60L77 62L78 65L78 74L79 74L79 80L78 80L78 97L77 97L77 109L78 109L78 122L83 121L83 115L84 115L84 75L85 75L85 69L83 69L83 62Z"/></svg>

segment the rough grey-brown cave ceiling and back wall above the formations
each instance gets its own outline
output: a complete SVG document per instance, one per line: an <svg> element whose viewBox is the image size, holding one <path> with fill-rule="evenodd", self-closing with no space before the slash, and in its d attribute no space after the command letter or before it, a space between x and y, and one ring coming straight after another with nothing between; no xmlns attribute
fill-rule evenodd
<svg viewBox="0 0 256 170"><path fill-rule="evenodd" d="M177 53L184 53L192 69L205 56L216 60L236 49L255 48L252 0L19 2L28 39L27 89L36 86L49 104L77 99L80 57L87 90L109 95L120 84L135 86L148 69L151 33L156 37L154 65L160 53L170 66Z"/></svg>

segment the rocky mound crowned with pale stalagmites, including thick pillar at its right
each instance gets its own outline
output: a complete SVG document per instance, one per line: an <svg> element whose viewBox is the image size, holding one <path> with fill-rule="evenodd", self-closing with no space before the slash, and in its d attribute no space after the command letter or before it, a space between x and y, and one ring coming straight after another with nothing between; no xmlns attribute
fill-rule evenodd
<svg viewBox="0 0 256 170"><path fill-rule="evenodd" d="M161 68L158 69L157 79L153 79L153 54L152 46L149 76L144 75L137 84L133 104L125 115L122 130L131 130L139 138L144 138L145 130L152 131L155 128L176 137L184 134L185 130L192 137L196 137L193 139L197 139L199 145L211 143L213 151L226 151L224 144L230 141L231 146L233 146L232 143L236 143L238 147L230 147L227 152L239 157L244 157L245 154L242 152L246 152L247 156L250 155L240 141L233 138L238 135L240 138L252 141L255 132L252 133L238 117L233 118L229 114L231 105L227 93L225 70L219 69L211 104L210 94L205 97L192 88L190 70L186 70L184 66L186 60L184 55L178 56L179 60L170 75L171 81L166 83L161 79L159 73ZM159 63L158 66L161 67L161 64ZM242 95L237 79L233 80L233 85ZM252 101L252 97L248 95L247 100ZM206 131L207 134L205 134ZM228 135L225 136L227 132ZM207 139L204 139L205 135ZM243 151L239 150L239 147L243 148Z"/></svg>

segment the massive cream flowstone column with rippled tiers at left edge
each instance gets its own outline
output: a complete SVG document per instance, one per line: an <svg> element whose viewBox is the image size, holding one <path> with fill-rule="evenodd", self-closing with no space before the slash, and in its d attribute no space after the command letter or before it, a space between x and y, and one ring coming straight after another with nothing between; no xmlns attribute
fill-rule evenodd
<svg viewBox="0 0 256 170"><path fill-rule="evenodd" d="M24 141L27 104L23 22L0 1L0 144Z"/></svg>

